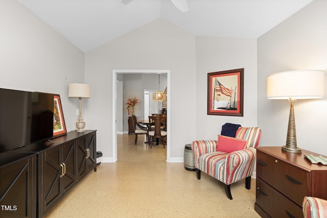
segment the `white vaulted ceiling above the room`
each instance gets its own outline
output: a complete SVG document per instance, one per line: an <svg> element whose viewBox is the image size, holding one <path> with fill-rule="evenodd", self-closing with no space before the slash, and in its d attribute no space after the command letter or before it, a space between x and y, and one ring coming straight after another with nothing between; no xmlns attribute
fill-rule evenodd
<svg viewBox="0 0 327 218"><path fill-rule="evenodd" d="M17 0L87 52L155 19L196 36L258 38L313 0ZM177 1L177 0L175 0Z"/></svg>

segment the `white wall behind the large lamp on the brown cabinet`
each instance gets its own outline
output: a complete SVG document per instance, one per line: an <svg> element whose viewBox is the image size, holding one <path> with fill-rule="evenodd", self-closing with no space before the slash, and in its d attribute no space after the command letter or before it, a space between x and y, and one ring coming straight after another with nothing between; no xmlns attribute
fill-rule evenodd
<svg viewBox="0 0 327 218"><path fill-rule="evenodd" d="M267 100L267 76L299 69L327 70L327 1L315 0L258 39L258 125L261 146L286 143L290 104ZM326 75L325 75L326 77ZM325 78L325 94L327 89ZM314 84L313 84L314 85ZM294 103L297 147L327 155L326 97Z"/></svg>

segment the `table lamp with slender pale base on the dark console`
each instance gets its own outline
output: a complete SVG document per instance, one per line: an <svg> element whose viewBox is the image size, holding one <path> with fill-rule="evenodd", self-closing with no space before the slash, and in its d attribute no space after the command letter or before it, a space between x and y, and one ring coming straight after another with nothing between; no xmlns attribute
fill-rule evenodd
<svg viewBox="0 0 327 218"><path fill-rule="evenodd" d="M90 98L91 91L90 85L82 83L69 83L68 85L68 97L78 98L80 103L80 116L78 122L76 122L77 130L76 132L85 132L85 122L82 119L82 98Z"/></svg>

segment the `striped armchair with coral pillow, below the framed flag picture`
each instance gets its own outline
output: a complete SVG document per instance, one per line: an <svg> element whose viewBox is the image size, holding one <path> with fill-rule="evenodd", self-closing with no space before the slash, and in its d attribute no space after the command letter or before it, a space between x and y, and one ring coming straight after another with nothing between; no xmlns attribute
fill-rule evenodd
<svg viewBox="0 0 327 218"><path fill-rule="evenodd" d="M218 136L218 140L192 142L197 178L201 171L225 184L227 197L232 200L230 184L245 179L250 189L256 150L261 137L258 127L239 127L235 138Z"/></svg>

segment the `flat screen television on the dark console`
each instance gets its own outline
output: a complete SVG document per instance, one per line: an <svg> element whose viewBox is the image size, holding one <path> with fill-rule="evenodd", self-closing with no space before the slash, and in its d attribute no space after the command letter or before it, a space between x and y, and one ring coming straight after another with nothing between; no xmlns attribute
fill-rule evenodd
<svg viewBox="0 0 327 218"><path fill-rule="evenodd" d="M54 94L0 88L0 152L53 137Z"/></svg>

